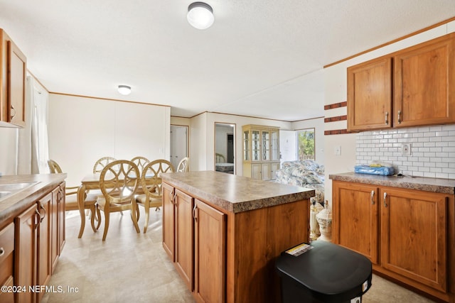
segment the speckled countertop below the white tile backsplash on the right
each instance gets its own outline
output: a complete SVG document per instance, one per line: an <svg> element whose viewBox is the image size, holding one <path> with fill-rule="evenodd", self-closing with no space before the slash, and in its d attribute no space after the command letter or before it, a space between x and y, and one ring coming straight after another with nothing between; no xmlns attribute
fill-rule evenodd
<svg viewBox="0 0 455 303"><path fill-rule="evenodd" d="M400 187L407 189L418 189L426 192L441 192L443 194L455 194L455 179L439 179L427 177L403 176L378 176L345 172L341 174L328 175L331 180L375 184L388 187Z"/></svg>

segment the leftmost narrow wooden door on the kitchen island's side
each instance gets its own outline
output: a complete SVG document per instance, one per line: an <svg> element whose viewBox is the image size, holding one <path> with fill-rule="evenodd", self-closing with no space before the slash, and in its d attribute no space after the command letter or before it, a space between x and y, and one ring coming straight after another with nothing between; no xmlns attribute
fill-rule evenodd
<svg viewBox="0 0 455 303"><path fill-rule="evenodd" d="M163 182L163 248L175 262L174 189Z"/></svg>

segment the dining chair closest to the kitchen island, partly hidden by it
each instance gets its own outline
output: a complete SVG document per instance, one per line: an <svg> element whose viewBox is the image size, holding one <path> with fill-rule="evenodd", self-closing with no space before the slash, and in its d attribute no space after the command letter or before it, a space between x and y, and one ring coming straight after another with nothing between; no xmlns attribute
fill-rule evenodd
<svg viewBox="0 0 455 303"><path fill-rule="evenodd" d="M156 207L156 210L159 210L159 207L163 204L161 174L173 171L171 162L164 159L149 162L142 171L141 187L144 194L139 194L136 197L136 202L137 205L144 206L145 209L144 233L146 233L147 226L149 226L150 208Z"/></svg>

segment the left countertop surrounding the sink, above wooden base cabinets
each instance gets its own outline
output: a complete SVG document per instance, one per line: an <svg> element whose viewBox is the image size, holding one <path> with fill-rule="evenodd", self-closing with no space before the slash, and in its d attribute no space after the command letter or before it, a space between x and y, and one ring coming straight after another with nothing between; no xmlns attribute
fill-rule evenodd
<svg viewBox="0 0 455 303"><path fill-rule="evenodd" d="M38 199L52 191L61 182L65 181L66 174L41 174L41 175L9 175L0 177L0 185L34 182L30 186L13 192L9 196L0 198L0 226L4 221L21 214Z"/></svg>

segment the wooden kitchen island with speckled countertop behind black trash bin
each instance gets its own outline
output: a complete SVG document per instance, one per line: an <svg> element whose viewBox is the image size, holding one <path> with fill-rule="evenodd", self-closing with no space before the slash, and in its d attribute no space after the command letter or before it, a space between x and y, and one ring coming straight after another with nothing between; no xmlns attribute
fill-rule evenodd
<svg viewBox="0 0 455 303"><path fill-rule="evenodd" d="M164 249L197 302L279 302L275 260L309 241L311 197L222 172L164 174Z"/></svg>

